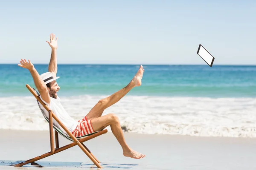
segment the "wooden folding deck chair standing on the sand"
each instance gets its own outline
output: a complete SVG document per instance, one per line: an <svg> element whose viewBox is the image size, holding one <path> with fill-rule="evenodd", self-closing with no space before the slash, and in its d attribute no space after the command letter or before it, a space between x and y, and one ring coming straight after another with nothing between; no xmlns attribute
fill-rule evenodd
<svg viewBox="0 0 256 170"><path fill-rule="evenodd" d="M65 127L65 125L55 116L54 113L52 113L52 111L47 107L47 105L41 100L41 98L39 97L40 94L34 89L31 88L29 85L26 85L26 88L29 89L29 91L35 96L35 98L37 99L38 102L38 106L41 110L41 112L44 115L44 111L42 110L42 108L39 105L39 102L41 103L41 105L44 106L44 108L48 111L49 113L49 120L47 119L47 117L44 115L44 118L47 120L47 122L49 122L49 133L50 133L50 147L51 147L51 151L48 153L45 153L41 156L37 156L35 158L29 159L27 161L21 162L19 164L15 164L15 167L21 167L23 165L29 164L29 163L35 163L35 161L38 161L40 159L44 159L48 156L54 155L55 153L61 152L63 150L69 149L70 147L76 146L78 145L82 151L84 151L84 153L89 157L89 159L91 161L93 161L93 163L98 167L98 168L102 168L102 166L99 164L99 160L96 159L96 157L90 152L90 150L83 144L83 142L88 141L90 139L93 139L97 136L100 136L102 134L105 134L108 132L107 129L105 130L101 130L101 131L97 131L94 133L90 133L88 135L84 135L81 137L75 137L68 129L67 127ZM58 122L58 124L65 130L66 133L64 133L61 129L59 129L58 127L55 127L52 123L52 118L55 119L56 122ZM54 148L54 136L53 136L53 129L55 131L55 148ZM70 144L67 144L63 147L59 147L59 142L58 142L58 134L60 134L61 136L63 136L64 138L73 141Z"/></svg>

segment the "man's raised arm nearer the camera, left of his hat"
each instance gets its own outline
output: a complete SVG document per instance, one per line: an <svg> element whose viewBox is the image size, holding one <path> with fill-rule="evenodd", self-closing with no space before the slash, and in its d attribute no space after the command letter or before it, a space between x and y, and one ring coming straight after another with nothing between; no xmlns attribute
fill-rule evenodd
<svg viewBox="0 0 256 170"><path fill-rule="evenodd" d="M30 62L30 60L29 62L27 62L26 59L21 59L20 64L18 64L18 66L22 68L26 68L30 71L35 82L35 87L38 89L42 99L49 104L51 98L47 90L47 86L44 83L44 81L41 79L40 75L36 71L34 65Z"/></svg>

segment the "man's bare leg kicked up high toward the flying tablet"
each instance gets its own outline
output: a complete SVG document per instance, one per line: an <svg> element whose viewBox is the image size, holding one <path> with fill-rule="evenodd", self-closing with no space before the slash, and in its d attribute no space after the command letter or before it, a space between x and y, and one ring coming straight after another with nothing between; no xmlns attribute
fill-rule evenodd
<svg viewBox="0 0 256 170"><path fill-rule="evenodd" d="M122 99L122 97L125 96L125 94L127 94L129 91L131 91L132 88L140 86L143 72L144 68L142 65L140 65L138 72L135 74L131 82L125 88L122 88L111 96L99 100L99 102L86 115L87 119L90 120L102 116L102 113L106 108L110 107L111 105Z"/></svg>

